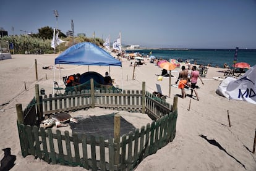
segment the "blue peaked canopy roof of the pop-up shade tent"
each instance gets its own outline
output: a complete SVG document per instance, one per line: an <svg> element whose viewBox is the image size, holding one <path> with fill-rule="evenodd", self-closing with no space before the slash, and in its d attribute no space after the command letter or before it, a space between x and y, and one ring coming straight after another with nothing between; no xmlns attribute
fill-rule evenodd
<svg viewBox="0 0 256 171"><path fill-rule="evenodd" d="M122 66L121 61L90 42L75 44L66 49L56 57L55 64Z"/></svg>

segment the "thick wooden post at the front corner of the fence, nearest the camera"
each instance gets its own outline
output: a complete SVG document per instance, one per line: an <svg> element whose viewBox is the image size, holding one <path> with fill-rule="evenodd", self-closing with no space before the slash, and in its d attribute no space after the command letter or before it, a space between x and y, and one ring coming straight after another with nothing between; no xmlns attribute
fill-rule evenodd
<svg viewBox="0 0 256 171"><path fill-rule="evenodd" d="M114 148L114 165L119 164L119 148L120 148L120 125L121 116L119 114L114 115L114 143L116 148Z"/></svg>

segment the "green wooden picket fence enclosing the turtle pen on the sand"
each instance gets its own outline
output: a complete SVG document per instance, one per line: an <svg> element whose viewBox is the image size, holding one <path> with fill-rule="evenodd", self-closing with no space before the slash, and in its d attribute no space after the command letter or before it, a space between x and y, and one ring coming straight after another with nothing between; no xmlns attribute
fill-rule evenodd
<svg viewBox="0 0 256 171"><path fill-rule="evenodd" d="M39 127L40 119L51 114L90 107L142 112L154 121L117 140L93 135L79 138L75 132L62 133ZM24 111L21 104L17 104L16 109L23 157L33 155L51 164L80 166L88 170L134 170L145 157L173 141L176 133L177 97L170 105L145 91L145 83L142 91L88 90L49 94L49 97L33 98Z"/></svg>

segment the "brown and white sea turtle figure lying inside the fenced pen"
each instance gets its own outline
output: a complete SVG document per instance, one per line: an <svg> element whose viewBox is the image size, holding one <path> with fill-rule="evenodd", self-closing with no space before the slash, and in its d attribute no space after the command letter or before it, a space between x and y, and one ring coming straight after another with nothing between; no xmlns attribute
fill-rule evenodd
<svg viewBox="0 0 256 171"><path fill-rule="evenodd" d="M67 122L78 123L78 120L72 118L70 114L59 113L59 114L54 114L48 119L43 120L41 123L43 123L43 127L49 128L49 127L52 127L53 125L56 125L56 127L67 127L69 125L67 124Z"/></svg>

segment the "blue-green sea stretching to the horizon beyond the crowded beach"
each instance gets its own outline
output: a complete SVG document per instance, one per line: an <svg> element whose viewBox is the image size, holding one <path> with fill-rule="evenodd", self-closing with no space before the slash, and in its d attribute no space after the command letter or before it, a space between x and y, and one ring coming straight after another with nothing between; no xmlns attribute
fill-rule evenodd
<svg viewBox="0 0 256 171"><path fill-rule="evenodd" d="M198 65L210 65L223 67L226 63L232 68L236 49L133 49L126 52L139 52L143 56L157 57L158 59L190 60ZM250 66L256 65L256 49L238 49L237 62L247 62Z"/></svg>

